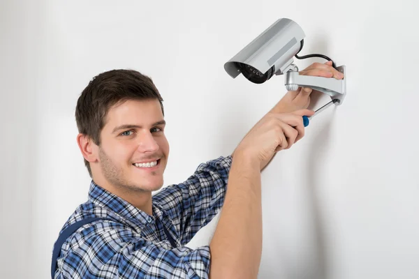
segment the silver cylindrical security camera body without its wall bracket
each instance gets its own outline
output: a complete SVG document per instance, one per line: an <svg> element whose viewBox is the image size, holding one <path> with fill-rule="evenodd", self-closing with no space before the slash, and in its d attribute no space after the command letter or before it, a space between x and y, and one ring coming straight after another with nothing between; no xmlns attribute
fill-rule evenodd
<svg viewBox="0 0 419 279"><path fill-rule="evenodd" d="M272 75L289 70L293 56L300 52L305 34L301 27L281 18L228 61L224 68L235 78L242 73L253 83L263 83Z"/></svg>

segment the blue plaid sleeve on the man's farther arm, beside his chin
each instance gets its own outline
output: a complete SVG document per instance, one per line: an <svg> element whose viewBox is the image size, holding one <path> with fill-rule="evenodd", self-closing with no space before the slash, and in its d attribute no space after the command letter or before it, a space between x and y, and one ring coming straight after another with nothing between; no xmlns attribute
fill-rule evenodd
<svg viewBox="0 0 419 279"><path fill-rule="evenodd" d="M184 183L163 188L154 195L168 213L185 245L198 230L210 223L223 206L232 157L202 163Z"/></svg>

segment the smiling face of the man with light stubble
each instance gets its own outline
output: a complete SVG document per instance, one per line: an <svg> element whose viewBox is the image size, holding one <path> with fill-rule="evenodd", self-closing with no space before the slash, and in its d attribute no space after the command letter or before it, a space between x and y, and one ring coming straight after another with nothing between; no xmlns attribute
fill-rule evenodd
<svg viewBox="0 0 419 279"><path fill-rule="evenodd" d="M159 100L110 108L98 146L101 176L119 190L159 190L169 154Z"/></svg>

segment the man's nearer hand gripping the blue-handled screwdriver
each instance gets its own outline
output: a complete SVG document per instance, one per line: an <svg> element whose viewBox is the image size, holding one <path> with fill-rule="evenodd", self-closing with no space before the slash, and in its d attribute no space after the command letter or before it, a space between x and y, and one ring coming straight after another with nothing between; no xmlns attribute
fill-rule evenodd
<svg viewBox="0 0 419 279"><path fill-rule="evenodd" d="M268 112L243 138L234 151L235 156L246 156L246 159L256 161L262 170L275 153L290 149L304 137L302 116L313 114L312 110L297 110L292 113Z"/></svg>

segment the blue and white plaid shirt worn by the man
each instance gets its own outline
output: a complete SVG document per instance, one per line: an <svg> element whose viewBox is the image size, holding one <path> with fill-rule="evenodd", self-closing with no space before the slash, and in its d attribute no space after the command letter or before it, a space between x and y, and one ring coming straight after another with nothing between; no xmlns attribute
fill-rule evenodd
<svg viewBox="0 0 419 279"><path fill-rule="evenodd" d="M202 163L184 183L163 188L152 197L152 216L91 181L88 201L60 233L84 218L109 220L83 225L67 239L55 278L208 278L210 246L184 245L220 211L231 160Z"/></svg>

